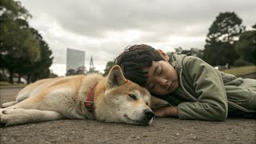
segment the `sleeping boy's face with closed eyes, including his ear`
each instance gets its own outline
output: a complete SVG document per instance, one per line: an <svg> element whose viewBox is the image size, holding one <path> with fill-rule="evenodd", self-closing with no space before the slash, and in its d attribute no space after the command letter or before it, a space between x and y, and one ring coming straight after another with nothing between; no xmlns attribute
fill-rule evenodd
<svg viewBox="0 0 256 144"><path fill-rule="evenodd" d="M158 61L152 63L152 66L144 68L148 71L148 78L146 88L150 93L159 96L169 94L178 88L178 74L174 67L169 63L167 54L158 50L165 61Z"/></svg>

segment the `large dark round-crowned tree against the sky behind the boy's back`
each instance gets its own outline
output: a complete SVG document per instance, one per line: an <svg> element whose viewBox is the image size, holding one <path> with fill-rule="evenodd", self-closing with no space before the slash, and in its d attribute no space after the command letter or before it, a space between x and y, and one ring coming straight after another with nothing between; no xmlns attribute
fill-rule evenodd
<svg viewBox="0 0 256 144"><path fill-rule="evenodd" d="M234 42L245 30L242 19L234 12L218 14L209 28L203 59L210 65L233 64L238 57L234 50Z"/></svg>

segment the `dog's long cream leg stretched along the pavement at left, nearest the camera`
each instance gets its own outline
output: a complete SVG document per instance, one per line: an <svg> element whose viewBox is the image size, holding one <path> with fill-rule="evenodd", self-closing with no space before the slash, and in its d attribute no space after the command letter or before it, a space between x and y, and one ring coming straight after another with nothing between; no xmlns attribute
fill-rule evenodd
<svg viewBox="0 0 256 144"><path fill-rule="evenodd" d="M62 114L48 110L9 109L0 114L1 125L14 126L30 122L44 122L62 119Z"/></svg>

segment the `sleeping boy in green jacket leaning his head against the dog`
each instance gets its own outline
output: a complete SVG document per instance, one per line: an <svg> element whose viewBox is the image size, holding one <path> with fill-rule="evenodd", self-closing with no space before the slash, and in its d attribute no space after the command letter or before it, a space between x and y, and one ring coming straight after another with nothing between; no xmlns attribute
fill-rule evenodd
<svg viewBox="0 0 256 144"><path fill-rule="evenodd" d="M227 115L255 118L256 80L236 78L184 54L168 56L147 45L126 48L115 59L126 78L145 86L170 106L157 117L225 121Z"/></svg>

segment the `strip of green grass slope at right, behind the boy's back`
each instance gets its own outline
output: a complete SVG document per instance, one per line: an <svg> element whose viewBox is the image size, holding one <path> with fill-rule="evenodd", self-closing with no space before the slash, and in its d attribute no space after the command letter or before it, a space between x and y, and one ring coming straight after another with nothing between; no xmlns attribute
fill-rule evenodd
<svg viewBox="0 0 256 144"><path fill-rule="evenodd" d="M232 67L228 70L221 70L226 74L234 74L236 76L242 76L245 74L256 73L256 66L241 66L241 67Z"/></svg>

